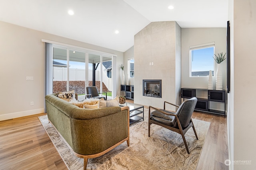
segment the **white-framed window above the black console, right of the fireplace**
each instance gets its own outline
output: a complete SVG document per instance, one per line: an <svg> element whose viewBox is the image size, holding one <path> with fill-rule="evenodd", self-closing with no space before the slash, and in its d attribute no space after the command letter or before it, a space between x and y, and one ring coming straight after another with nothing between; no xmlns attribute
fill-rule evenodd
<svg viewBox="0 0 256 170"><path fill-rule="evenodd" d="M190 47L190 77L214 75L214 43Z"/></svg>

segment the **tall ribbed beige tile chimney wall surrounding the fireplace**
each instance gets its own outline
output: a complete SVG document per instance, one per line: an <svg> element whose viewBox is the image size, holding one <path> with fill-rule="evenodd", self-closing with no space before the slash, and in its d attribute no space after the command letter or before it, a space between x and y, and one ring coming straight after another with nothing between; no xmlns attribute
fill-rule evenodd
<svg viewBox="0 0 256 170"><path fill-rule="evenodd" d="M134 36L134 73L134 103L158 108L164 101L180 104L181 28L176 21L151 22ZM162 98L143 96L144 79L162 80Z"/></svg>

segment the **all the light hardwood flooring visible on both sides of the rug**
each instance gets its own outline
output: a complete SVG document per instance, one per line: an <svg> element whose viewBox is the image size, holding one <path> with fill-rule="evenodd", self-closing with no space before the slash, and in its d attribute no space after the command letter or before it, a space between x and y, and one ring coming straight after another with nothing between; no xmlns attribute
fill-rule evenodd
<svg viewBox="0 0 256 170"><path fill-rule="evenodd" d="M0 121L0 170L68 169L42 127L40 115L45 114ZM204 112L194 112L192 118L211 123L196 170L228 170L224 164L228 159L226 118Z"/></svg>

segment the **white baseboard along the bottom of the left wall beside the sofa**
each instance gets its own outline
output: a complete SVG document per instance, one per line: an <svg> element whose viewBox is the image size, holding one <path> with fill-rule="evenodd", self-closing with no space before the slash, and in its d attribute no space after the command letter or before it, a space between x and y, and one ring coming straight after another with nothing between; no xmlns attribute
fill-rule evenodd
<svg viewBox="0 0 256 170"><path fill-rule="evenodd" d="M39 113L44 113L44 108L0 115L0 121L8 120L8 119L14 119L14 118L17 118L17 117L36 115L36 114L39 114Z"/></svg>

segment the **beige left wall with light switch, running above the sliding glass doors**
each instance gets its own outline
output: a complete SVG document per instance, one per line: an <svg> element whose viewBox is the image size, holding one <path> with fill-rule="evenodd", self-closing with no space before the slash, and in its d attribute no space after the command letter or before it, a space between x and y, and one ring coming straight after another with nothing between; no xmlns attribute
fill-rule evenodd
<svg viewBox="0 0 256 170"><path fill-rule="evenodd" d="M44 112L44 47L42 39L117 55L124 53L0 21L0 120ZM15 69L13 69L15 68ZM116 68L119 72L119 69ZM34 81L26 81L33 76ZM120 77L117 76L117 83ZM116 92L120 84L116 85ZM34 102L34 106L30 106Z"/></svg>

